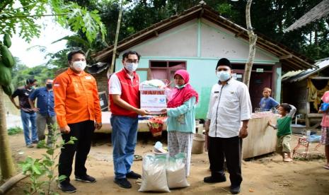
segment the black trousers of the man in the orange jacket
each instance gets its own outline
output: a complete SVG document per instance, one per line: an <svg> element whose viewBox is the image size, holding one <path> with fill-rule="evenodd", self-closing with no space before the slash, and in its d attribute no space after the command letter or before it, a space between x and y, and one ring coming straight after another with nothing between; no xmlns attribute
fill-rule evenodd
<svg viewBox="0 0 329 195"><path fill-rule="evenodd" d="M65 179L67 181L69 181L72 172L74 154L76 154L74 175L84 176L87 174L85 163L87 155L91 150L91 136L95 130L94 122L89 120L68 125L71 131L69 134L62 134L63 141L67 143L71 136L76 137L78 140L74 141L74 144L64 145L64 148L61 149L61 154L59 155L59 176L67 176Z"/></svg>

